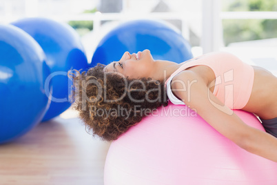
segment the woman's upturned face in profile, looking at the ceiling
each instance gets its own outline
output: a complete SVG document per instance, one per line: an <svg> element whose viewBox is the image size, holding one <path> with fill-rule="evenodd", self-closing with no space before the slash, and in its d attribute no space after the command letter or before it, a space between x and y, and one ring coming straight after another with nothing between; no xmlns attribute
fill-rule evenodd
<svg viewBox="0 0 277 185"><path fill-rule="evenodd" d="M150 50L133 53L125 52L119 61L113 61L105 66L105 72L119 72L124 77L139 79L141 77L151 77L154 67L154 59Z"/></svg>

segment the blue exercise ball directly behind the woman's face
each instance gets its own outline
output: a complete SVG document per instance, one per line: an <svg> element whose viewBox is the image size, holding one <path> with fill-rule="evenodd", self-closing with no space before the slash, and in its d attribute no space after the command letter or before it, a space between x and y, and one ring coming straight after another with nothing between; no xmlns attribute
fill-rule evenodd
<svg viewBox="0 0 277 185"><path fill-rule="evenodd" d="M153 20L127 21L111 30L96 47L91 66L110 64L121 59L125 51L148 49L154 59L181 63L192 59L189 43L168 23Z"/></svg>

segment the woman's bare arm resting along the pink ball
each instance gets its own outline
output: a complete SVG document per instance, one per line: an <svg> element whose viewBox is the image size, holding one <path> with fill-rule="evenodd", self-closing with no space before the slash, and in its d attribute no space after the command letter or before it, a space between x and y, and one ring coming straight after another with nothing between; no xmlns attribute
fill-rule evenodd
<svg viewBox="0 0 277 185"><path fill-rule="evenodd" d="M173 93L189 108L195 108L219 133L250 153L277 162L277 138L245 124L209 92L205 81L195 72L180 72L173 80L181 81L172 83Z"/></svg>

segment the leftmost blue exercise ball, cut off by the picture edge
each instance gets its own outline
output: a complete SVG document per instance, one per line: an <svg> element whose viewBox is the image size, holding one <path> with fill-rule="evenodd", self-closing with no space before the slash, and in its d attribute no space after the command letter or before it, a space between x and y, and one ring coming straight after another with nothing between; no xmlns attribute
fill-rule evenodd
<svg viewBox="0 0 277 185"><path fill-rule="evenodd" d="M0 144L41 121L50 104L44 90L48 75L39 44L15 26L0 25Z"/></svg>

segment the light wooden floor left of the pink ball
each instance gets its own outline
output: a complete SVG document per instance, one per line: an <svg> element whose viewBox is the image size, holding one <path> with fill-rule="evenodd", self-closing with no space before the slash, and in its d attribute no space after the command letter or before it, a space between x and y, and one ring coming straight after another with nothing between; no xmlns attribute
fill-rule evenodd
<svg viewBox="0 0 277 185"><path fill-rule="evenodd" d="M0 145L0 184L101 185L109 146L78 118L57 117Z"/></svg>

